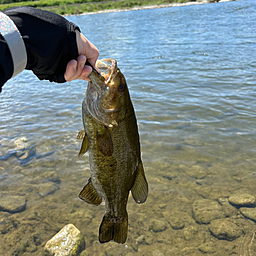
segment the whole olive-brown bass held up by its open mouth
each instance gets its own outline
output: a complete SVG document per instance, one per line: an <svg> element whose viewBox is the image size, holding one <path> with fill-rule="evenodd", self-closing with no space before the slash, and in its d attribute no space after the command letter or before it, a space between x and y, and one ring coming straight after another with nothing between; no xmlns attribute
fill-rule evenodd
<svg viewBox="0 0 256 256"><path fill-rule="evenodd" d="M83 201L100 205L105 215L99 241L125 243L128 233L127 201L131 191L137 204L148 196L141 160L137 119L124 75L115 59L98 60L89 75L82 103L84 129L79 156L89 152L91 177L79 194Z"/></svg>

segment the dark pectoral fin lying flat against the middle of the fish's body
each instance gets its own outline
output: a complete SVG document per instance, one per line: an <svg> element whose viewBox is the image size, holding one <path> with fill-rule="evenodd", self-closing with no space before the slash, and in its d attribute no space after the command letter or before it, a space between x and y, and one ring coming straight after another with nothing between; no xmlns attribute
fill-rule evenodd
<svg viewBox="0 0 256 256"><path fill-rule="evenodd" d="M113 154L113 142L107 128L105 128L102 134L97 133L96 140L98 149L103 155L111 156Z"/></svg>

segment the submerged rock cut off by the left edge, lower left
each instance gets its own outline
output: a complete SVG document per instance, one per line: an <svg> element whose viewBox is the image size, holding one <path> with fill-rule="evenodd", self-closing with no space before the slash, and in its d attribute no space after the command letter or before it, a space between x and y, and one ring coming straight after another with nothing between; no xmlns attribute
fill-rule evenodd
<svg viewBox="0 0 256 256"><path fill-rule="evenodd" d="M27 200L23 196L5 194L0 196L0 211L17 213L26 210Z"/></svg>

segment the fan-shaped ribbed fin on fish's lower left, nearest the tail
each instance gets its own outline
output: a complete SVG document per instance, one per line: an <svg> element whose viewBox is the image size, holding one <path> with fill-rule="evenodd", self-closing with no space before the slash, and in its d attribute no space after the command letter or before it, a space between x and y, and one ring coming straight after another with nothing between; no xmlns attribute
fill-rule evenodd
<svg viewBox="0 0 256 256"><path fill-rule="evenodd" d="M79 198L89 204L94 205L100 205L102 202L101 196L92 185L91 178L88 180L88 183L83 187L82 191L79 194Z"/></svg>

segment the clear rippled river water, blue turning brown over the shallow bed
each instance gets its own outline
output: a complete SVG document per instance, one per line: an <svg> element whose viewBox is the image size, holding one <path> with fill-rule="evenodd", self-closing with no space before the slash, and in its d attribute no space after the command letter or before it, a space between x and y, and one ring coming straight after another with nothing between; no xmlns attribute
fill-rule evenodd
<svg viewBox="0 0 256 256"><path fill-rule="evenodd" d="M0 95L1 198L27 200L21 213L0 212L3 255L40 255L68 223L84 234L89 255L256 253L256 225L237 209L227 214L243 227L234 241L213 237L191 213L198 199L256 196L255 12L245 0L68 17L127 79L150 194L143 205L129 200L128 248L100 245L104 206L77 198L90 176L76 140L87 83L53 84L24 71ZM173 218L184 227L173 228ZM150 231L153 219L165 229ZM204 252L208 242L215 250Z"/></svg>

